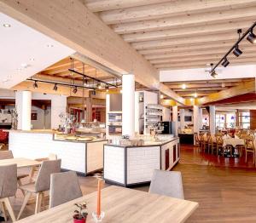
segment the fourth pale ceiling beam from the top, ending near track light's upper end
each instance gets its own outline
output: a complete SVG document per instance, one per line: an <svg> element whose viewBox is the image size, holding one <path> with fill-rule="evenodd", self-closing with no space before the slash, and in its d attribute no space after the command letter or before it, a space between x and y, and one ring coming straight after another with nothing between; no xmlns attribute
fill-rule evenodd
<svg viewBox="0 0 256 223"><path fill-rule="evenodd" d="M235 32L237 31L237 27L241 29L247 29L252 26L255 20L241 20L241 21L231 21L231 22L222 22L222 23L214 23L212 25L196 25L189 26L185 28L172 28L168 30L160 30L160 31L143 31L136 33L124 34L122 37L128 43L134 42L143 42L143 41L151 41L151 40L160 40L166 38L178 38L178 37L197 37L203 35L210 34L222 34L229 31Z"/></svg>

